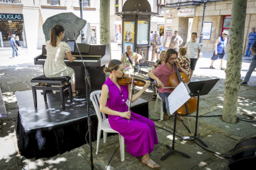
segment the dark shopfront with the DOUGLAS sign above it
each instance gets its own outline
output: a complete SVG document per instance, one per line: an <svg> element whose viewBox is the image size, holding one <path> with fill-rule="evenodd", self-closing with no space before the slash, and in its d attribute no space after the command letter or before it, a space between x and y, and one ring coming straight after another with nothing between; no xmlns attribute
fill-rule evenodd
<svg viewBox="0 0 256 170"><path fill-rule="evenodd" d="M12 34L15 34L19 36L20 45L27 47L22 14L0 14L0 16L0 46L11 47L10 39Z"/></svg>

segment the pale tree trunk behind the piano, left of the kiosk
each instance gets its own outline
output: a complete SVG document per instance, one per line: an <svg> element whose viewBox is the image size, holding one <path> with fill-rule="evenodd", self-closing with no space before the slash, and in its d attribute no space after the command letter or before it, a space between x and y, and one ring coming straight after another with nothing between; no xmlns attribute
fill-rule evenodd
<svg viewBox="0 0 256 170"><path fill-rule="evenodd" d="M110 59L110 1L100 0L100 43L109 44Z"/></svg>

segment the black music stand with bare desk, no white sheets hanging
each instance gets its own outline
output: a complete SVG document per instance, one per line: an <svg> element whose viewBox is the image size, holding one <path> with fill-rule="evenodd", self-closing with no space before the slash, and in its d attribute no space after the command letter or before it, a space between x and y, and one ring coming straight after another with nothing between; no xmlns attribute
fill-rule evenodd
<svg viewBox="0 0 256 170"><path fill-rule="evenodd" d="M191 97L197 96L197 116L195 119L195 134L194 136L182 137L180 140L197 139L199 142L201 142L201 144L203 144L204 147L208 148L208 145L205 144L203 140L198 138L200 134L197 133L199 99L200 99L200 95L207 95L219 80L220 79L210 79L206 81L194 81L187 84L191 92L190 96Z"/></svg>

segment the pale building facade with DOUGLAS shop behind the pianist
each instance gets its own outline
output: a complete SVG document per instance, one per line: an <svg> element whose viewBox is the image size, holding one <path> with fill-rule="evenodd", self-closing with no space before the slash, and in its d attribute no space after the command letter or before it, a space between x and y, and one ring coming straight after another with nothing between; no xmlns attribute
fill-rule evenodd
<svg viewBox="0 0 256 170"><path fill-rule="evenodd" d="M100 42L100 1L83 0L83 19L90 23L91 43ZM45 44L43 23L53 15L73 12L80 17L79 0L0 1L0 47L11 47L11 34L19 36L21 46L41 49ZM80 37L77 42L80 41Z"/></svg>

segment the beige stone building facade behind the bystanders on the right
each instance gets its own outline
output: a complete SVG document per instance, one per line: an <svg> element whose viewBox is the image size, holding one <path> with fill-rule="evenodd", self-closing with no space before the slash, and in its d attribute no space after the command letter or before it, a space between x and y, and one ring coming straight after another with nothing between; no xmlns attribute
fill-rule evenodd
<svg viewBox="0 0 256 170"><path fill-rule="evenodd" d="M256 27L256 0L247 0L245 32L244 32L244 51L247 48L248 35L252 28ZM233 0L209 1L205 9L205 20L203 26L203 51L213 52L216 39L221 36L224 30L230 30L231 10ZM165 31L164 46L168 46L170 36L174 31L179 31L179 36L184 39L182 46L190 41L190 34L196 32L199 41L202 18L202 0L166 0L164 7ZM229 38L229 37L228 37ZM226 46L228 48L228 44Z"/></svg>

